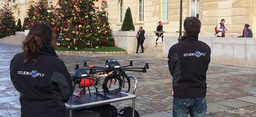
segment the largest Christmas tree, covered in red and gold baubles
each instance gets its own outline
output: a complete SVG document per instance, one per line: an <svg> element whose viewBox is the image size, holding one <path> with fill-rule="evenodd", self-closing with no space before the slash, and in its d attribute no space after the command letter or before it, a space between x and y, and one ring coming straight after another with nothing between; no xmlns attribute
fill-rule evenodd
<svg viewBox="0 0 256 117"><path fill-rule="evenodd" d="M98 0L59 0L54 27L57 46L79 49L114 45L107 18L101 14L104 11L97 12L94 2Z"/></svg>

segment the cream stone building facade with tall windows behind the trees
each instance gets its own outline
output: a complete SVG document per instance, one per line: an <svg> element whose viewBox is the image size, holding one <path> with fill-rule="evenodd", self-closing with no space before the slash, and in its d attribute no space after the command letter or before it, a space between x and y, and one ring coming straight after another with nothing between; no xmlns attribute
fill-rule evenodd
<svg viewBox="0 0 256 117"><path fill-rule="evenodd" d="M47 1L47 0L46 0ZM5 3L5 0L0 0ZM9 0L13 15L23 23L29 8L29 0ZM50 6L50 0L47 1ZM57 0L52 0L56 5ZM147 32L156 31L159 21L163 23L165 36L177 36L180 27L180 0L99 0L96 6L104 4L108 11L112 31L119 31L125 11L129 7L136 30L142 26ZM1 5L0 5L1 6ZM183 0L182 20L196 16L201 20L200 36L214 36L214 28L221 19L225 19L227 37L242 35L243 27L250 25L256 35L256 0ZM183 31L183 28L182 28Z"/></svg>

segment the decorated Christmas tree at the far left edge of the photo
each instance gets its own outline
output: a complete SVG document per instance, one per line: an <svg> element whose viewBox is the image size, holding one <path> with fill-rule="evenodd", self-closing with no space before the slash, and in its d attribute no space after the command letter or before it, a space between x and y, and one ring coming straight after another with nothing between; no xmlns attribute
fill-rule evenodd
<svg viewBox="0 0 256 117"><path fill-rule="evenodd" d="M0 9L0 38L15 35L16 24L11 8L8 7L8 1Z"/></svg>

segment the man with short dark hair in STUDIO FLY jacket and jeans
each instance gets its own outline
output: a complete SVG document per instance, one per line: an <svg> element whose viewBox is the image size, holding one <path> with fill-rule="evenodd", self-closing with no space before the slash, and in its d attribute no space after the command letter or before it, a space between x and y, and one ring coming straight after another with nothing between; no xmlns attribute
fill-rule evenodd
<svg viewBox="0 0 256 117"><path fill-rule="evenodd" d="M168 54L172 77L173 117L205 117L206 71L211 48L198 40L201 22L196 17L184 20L184 36Z"/></svg>

